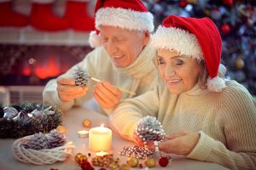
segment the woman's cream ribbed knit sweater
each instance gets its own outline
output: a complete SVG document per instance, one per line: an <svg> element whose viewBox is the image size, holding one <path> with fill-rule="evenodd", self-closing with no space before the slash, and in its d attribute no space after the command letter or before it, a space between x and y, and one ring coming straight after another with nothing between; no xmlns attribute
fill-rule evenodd
<svg viewBox="0 0 256 170"><path fill-rule="evenodd" d="M137 122L143 116L155 116L166 134L182 130L201 134L188 158L230 169L256 169L256 105L246 88L229 81L219 93L195 85L174 95L162 83L120 104L110 115L113 129L133 140Z"/></svg>

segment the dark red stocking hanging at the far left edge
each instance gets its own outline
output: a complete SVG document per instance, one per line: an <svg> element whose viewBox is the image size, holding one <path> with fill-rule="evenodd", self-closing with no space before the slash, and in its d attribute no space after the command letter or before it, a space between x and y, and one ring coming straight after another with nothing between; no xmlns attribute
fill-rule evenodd
<svg viewBox="0 0 256 170"><path fill-rule="evenodd" d="M0 26L21 27L28 24L28 18L12 9L11 0L0 0Z"/></svg>

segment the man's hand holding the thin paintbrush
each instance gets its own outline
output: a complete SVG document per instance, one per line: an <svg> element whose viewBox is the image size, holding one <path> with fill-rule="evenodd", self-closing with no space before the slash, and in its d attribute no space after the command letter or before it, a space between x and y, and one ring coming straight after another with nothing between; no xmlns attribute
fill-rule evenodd
<svg viewBox="0 0 256 170"><path fill-rule="evenodd" d="M119 104L123 94L109 82L98 82L95 87L94 97L102 108L110 109Z"/></svg>

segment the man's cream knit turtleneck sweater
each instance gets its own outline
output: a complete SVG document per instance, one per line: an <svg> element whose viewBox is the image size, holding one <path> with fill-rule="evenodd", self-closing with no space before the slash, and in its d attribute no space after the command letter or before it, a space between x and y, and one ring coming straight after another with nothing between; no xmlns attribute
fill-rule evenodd
<svg viewBox="0 0 256 170"><path fill-rule="evenodd" d="M74 65L61 77L73 77L74 69L79 65L89 71L90 77L95 77L102 81L111 82L113 85L126 88L137 95L143 94L153 88L157 82L157 71L152 62L156 54L153 48L146 46L138 58L125 68L116 68L103 47L96 48L79 64ZM50 105L58 106L61 111L67 111L74 105L82 105L84 101L92 98L92 91L95 82L90 81L88 93L79 99L73 99L70 102L62 102L56 91L56 79L50 80L43 92L44 102ZM122 99L132 98L137 95L123 93ZM102 111L102 110L101 110ZM111 112L104 110L102 113Z"/></svg>

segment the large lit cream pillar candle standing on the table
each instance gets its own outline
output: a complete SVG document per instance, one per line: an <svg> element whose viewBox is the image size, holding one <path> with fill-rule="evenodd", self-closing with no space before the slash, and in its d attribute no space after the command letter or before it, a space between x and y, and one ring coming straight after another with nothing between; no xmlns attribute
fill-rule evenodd
<svg viewBox="0 0 256 170"><path fill-rule="evenodd" d="M89 149L108 151L112 145L112 130L107 127L93 127L89 130Z"/></svg>

